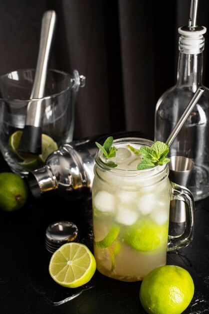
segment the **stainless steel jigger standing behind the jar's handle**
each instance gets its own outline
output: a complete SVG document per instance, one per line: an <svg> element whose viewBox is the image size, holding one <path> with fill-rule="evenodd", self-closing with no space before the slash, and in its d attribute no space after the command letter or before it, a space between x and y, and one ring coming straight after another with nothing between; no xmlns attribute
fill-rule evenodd
<svg viewBox="0 0 209 314"><path fill-rule="evenodd" d="M169 163L169 179L170 181L187 188L189 178L191 176L194 163L191 159L184 156L171 156ZM170 218L171 223L179 224L179 231L181 227L184 228L185 204L179 200L172 200L170 202ZM181 226L182 225L182 226Z"/></svg>

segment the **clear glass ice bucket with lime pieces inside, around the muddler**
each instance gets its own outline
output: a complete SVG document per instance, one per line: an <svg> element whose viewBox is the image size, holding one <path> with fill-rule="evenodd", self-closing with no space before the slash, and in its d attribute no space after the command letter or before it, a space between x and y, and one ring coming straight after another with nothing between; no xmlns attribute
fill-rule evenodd
<svg viewBox="0 0 209 314"><path fill-rule="evenodd" d="M49 70L42 106L42 153L30 155L18 152L18 144L25 125L35 70L17 70L0 77L0 151L10 169L26 176L42 166L47 155L61 144L72 140L74 103L85 78L74 70L73 75ZM43 135L44 134L44 135Z"/></svg>

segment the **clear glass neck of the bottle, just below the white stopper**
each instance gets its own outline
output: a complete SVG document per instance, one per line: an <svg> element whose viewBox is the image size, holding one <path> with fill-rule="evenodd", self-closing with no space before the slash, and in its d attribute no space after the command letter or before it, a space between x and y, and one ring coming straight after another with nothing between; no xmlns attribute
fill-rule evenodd
<svg viewBox="0 0 209 314"><path fill-rule="evenodd" d="M179 52L177 86L185 86L195 92L202 80L202 52L185 54Z"/></svg>

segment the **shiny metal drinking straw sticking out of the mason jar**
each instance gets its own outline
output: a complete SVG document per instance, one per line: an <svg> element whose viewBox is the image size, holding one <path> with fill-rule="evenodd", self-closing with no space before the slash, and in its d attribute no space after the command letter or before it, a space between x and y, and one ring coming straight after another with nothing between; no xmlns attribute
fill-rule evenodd
<svg viewBox="0 0 209 314"><path fill-rule="evenodd" d="M180 131L181 127L183 126L185 120L187 119L187 117L189 116L191 110L193 109L193 107L195 106L195 104L197 103L197 101L199 100L201 94L203 93L204 89L202 87L199 87L195 94L193 95L192 99L190 100L190 102L188 103L187 107L185 108L183 114L181 115L179 121L177 122L177 124L175 125L175 127L173 128L172 132L170 133L170 135L168 136L165 144L167 144L168 147L170 147L170 145L172 144L173 140L175 139L176 135L178 134L178 132Z"/></svg>

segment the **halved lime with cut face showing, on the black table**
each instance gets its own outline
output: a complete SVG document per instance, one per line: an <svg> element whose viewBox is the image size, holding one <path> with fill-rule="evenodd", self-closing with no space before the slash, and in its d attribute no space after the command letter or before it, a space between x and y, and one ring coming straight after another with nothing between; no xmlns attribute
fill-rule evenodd
<svg viewBox="0 0 209 314"><path fill-rule="evenodd" d="M56 250L49 262L49 274L58 284L76 288L88 282L96 269L90 250L80 243L66 243Z"/></svg>

